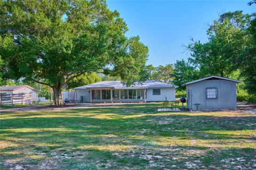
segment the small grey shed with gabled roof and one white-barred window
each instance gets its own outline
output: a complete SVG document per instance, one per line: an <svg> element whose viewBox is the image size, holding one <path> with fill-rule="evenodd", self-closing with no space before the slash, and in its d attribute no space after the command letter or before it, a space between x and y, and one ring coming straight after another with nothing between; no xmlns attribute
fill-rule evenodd
<svg viewBox="0 0 256 170"><path fill-rule="evenodd" d="M236 109L236 83L242 81L212 75L183 84L187 90L187 108L199 110Z"/></svg>

